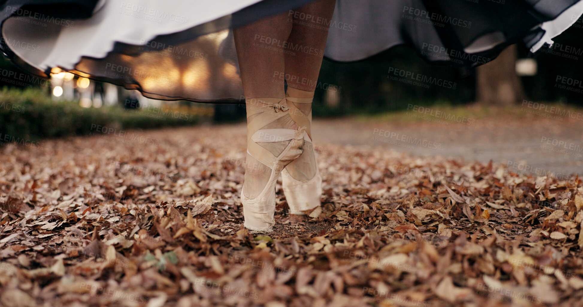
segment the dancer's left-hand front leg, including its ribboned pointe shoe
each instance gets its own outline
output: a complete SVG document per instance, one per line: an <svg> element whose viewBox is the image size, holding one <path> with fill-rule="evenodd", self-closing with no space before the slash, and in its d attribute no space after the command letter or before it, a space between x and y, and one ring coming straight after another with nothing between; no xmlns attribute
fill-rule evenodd
<svg viewBox="0 0 583 307"><path fill-rule="evenodd" d="M273 72L284 69L283 53L272 42L286 41L290 31L285 13L234 30L247 107L241 202L245 227L253 230L269 230L275 223L275 180L303 152L304 133L296 130L298 126L286 112L283 84L272 82Z"/></svg>

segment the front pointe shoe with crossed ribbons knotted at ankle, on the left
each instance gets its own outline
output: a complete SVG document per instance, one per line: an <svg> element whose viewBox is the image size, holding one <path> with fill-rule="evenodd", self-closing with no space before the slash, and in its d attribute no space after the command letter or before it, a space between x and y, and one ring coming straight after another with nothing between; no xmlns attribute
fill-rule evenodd
<svg viewBox="0 0 583 307"><path fill-rule="evenodd" d="M248 160L257 160L269 179L257 196L249 198L245 185L241 189L244 227L253 232L269 232L275 224L275 183L283 168L300 157L304 149L305 127L279 128L279 123L294 123L287 113L286 98L247 100ZM283 118L286 117L287 118ZM279 126L278 126L279 125ZM296 125L293 125L296 126ZM283 149L283 150L282 150ZM251 159L249 158L251 157ZM253 160L253 161L255 161ZM250 175L251 176L251 175ZM245 180L247 180L245 176ZM251 178L249 178L251 179ZM254 182L255 183L255 182ZM253 190L257 191L255 187Z"/></svg>

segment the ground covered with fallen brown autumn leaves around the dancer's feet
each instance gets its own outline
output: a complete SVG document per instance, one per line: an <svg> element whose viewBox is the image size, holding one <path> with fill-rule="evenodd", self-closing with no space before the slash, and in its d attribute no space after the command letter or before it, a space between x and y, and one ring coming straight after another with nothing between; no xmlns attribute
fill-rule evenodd
<svg viewBox="0 0 583 307"><path fill-rule="evenodd" d="M0 305L583 299L576 177L321 143L319 216L290 216L278 184L275 232L254 235L241 125L131 133L0 149Z"/></svg>

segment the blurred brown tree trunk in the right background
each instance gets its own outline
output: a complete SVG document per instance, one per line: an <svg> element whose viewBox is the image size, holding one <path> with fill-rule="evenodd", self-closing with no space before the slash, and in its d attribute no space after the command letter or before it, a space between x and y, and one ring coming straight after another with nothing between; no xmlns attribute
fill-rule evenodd
<svg viewBox="0 0 583 307"><path fill-rule="evenodd" d="M481 104L509 105L525 97L515 71L516 45L506 48L494 61L479 66L476 72L476 101Z"/></svg>

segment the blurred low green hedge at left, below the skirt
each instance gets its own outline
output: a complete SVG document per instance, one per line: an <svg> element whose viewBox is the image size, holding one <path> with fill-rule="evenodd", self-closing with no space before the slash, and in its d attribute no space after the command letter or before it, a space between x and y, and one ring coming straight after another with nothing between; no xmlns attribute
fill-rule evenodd
<svg viewBox="0 0 583 307"><path fill-rule="evenodd" d="M119 106L83 108L72 101L53 101L38 89L4 88L0 91L0 133L21 139L87 135L95 132L97 125L152 129L195 125L201 119L201 116L189 114L175 118L139 109L128 111Z"/></svg>

